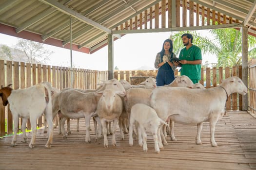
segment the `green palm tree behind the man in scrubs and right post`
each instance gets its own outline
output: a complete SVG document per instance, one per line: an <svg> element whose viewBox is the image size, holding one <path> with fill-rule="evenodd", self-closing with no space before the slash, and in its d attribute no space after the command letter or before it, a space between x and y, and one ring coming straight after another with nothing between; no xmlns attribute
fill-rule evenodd
<svg viewBox="0 0 256 170"><path fill-rule="evenodd" d="M203 36L198 32L178 32L172 36L174 40L174 52L177 54L184 48L181 35L190 33L193 35L193 44L201 48L203 54L209 53L217 56L219 67L232 67L241 64L242 58L242 34L233 28L211 30L213 38ZM256 58L256 37L248 35L248 56Z"/></svg>

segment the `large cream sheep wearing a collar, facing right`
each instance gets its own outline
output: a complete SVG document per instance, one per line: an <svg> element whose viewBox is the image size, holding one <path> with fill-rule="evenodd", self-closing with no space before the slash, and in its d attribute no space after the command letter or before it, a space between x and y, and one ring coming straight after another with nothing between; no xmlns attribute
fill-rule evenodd
<svg viewBox="0 0 256 170"><path fill-rule="evenodd" d="M200 133L203 122L209 121L211 145L217 146L214 137L215 127L225 112L228 96L232 93L245 95L247 90L238 77L227 78L218 87L210 89L163 87L153 90L150 105L164 121L170 118L181 124L197 124L197 144L201 144ZM165 140L163 136L162 140Z"/></svg>

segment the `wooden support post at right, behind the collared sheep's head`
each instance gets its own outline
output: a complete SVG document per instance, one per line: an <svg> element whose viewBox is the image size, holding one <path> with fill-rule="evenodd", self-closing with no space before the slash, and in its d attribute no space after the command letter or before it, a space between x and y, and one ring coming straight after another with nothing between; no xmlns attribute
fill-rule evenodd
<svg viewBox="0 0 256 170"><path fill-rule="evenodd" d="M248 27L242 27L242 81L248 87ZM242 110L248 110L248 94L242 96Z"/></svg>

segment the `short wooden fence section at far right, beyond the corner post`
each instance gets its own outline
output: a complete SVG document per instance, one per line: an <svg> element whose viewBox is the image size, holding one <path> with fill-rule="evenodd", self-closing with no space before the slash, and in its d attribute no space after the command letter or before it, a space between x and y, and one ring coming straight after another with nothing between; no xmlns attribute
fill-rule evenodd
<svg viewBox="0 0 256 170"><path fill-rule="evenodd" d="M249 113L256 118L256 65L249 66Z"/></svg>

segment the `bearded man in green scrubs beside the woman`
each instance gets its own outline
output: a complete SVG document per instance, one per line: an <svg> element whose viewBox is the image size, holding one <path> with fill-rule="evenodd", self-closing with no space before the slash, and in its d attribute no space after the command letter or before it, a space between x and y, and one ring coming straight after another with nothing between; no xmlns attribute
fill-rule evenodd
<svg viewBox="0 0 256 170"><path fill-rule="evenodd" d="M180 75L188 76L192 82L198 83L201 80L201 49L193 45L193 36L191 34L183 34L181 36L184 46L179 53L179 63L182 64Z"/></svg>

